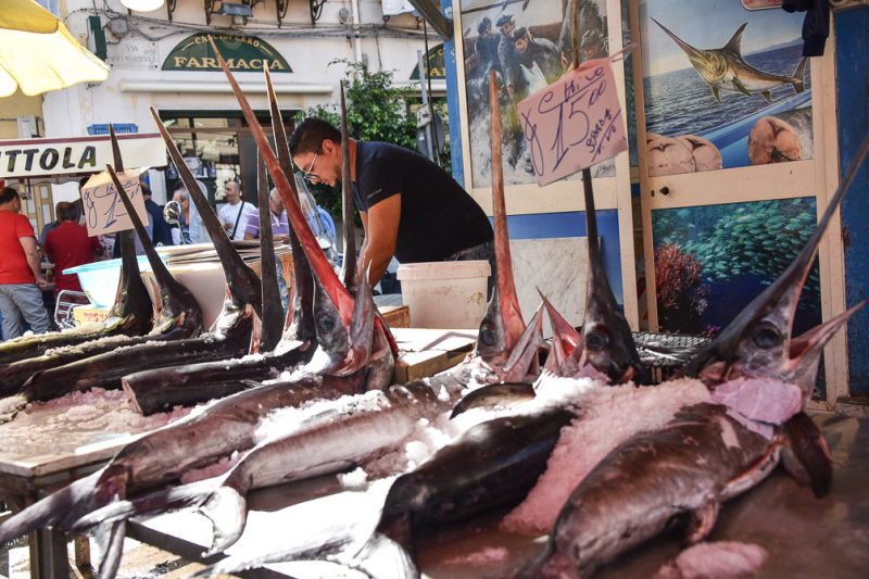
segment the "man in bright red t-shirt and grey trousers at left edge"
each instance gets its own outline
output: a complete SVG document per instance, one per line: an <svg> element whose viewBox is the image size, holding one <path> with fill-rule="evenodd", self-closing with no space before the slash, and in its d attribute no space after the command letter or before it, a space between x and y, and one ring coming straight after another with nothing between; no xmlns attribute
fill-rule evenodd
<svg viewBox="0 0 869 579"><path fill-rule="evenodd" d="M51 329L41 290L48 286L30 219L21 214L21 198L11 187L0 189L0 315L3 339L22 335L21 318L34 333Z"/></svg>

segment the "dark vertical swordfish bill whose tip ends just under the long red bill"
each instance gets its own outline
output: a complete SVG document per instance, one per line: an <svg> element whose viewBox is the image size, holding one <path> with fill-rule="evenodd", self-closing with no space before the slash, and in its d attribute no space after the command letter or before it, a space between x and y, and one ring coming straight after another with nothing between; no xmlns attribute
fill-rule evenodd
<svg viewBox="0 0 869 579"><path fill-rule="evenodd" d="M263 318L255 352L272 352L284 333L284 304L278 288L278 267L275 264L275 240L272 237L272 210L268 196L268 174L263 156L256 154L256 188L260 198L260 267L263 286ZM251 353L255 353L251 349Z"/></svg>

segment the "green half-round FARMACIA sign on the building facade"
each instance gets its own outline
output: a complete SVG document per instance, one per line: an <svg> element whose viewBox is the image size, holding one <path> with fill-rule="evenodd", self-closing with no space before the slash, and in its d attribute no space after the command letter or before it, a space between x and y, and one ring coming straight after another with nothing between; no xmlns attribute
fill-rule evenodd
<svg viewBox="0 0 869 579"><path fill-rule="evenodd" d="M164 71L219 72L217 54L209 42L209 37L217 45L217 50L234 72L262 71L268 64L273 73L291 73L289 63L272 45L255 36L240 34L197 34L180 41L166 60Z"/></svg>

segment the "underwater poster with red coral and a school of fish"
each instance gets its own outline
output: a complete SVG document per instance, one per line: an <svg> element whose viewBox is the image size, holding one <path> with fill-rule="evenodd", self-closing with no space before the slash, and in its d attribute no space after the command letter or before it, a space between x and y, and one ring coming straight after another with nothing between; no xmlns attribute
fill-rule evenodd
<svg viewBox="0 0 869 579"><path fill-rule="evenodd" d="M658 325L715 335L776 280L817 224L815 199L777 199L654 210ZM797 306L794 333L821 323L817 260Z"/></svg>

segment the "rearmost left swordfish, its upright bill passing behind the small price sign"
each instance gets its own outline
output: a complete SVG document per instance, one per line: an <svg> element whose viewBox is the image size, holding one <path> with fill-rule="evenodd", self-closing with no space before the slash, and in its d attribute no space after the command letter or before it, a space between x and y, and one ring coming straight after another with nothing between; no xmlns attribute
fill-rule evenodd
<svg viewBox="0 0 869 579"><path fill-rule="evenodd" d="M117 146L117 139L111 124L109 125L109 133L112 139L112 153L115 165L123 166L121 149ZM0 344L0 383L8 387L7 389L0 389L0 395L3 395L2 393L9 388L17 388L23 383L12 385L7 381L5 369L9 364L41 356L46 351L54 348L83 344L111 336L144 336L151 330L153 305L139 273L133 231L121 231L118 234L118 242L121 243L122 259L121 281L109 316L99 324L89 324L84 328L15 338ZM10 391L8 393L13 392Z"/></svg>

